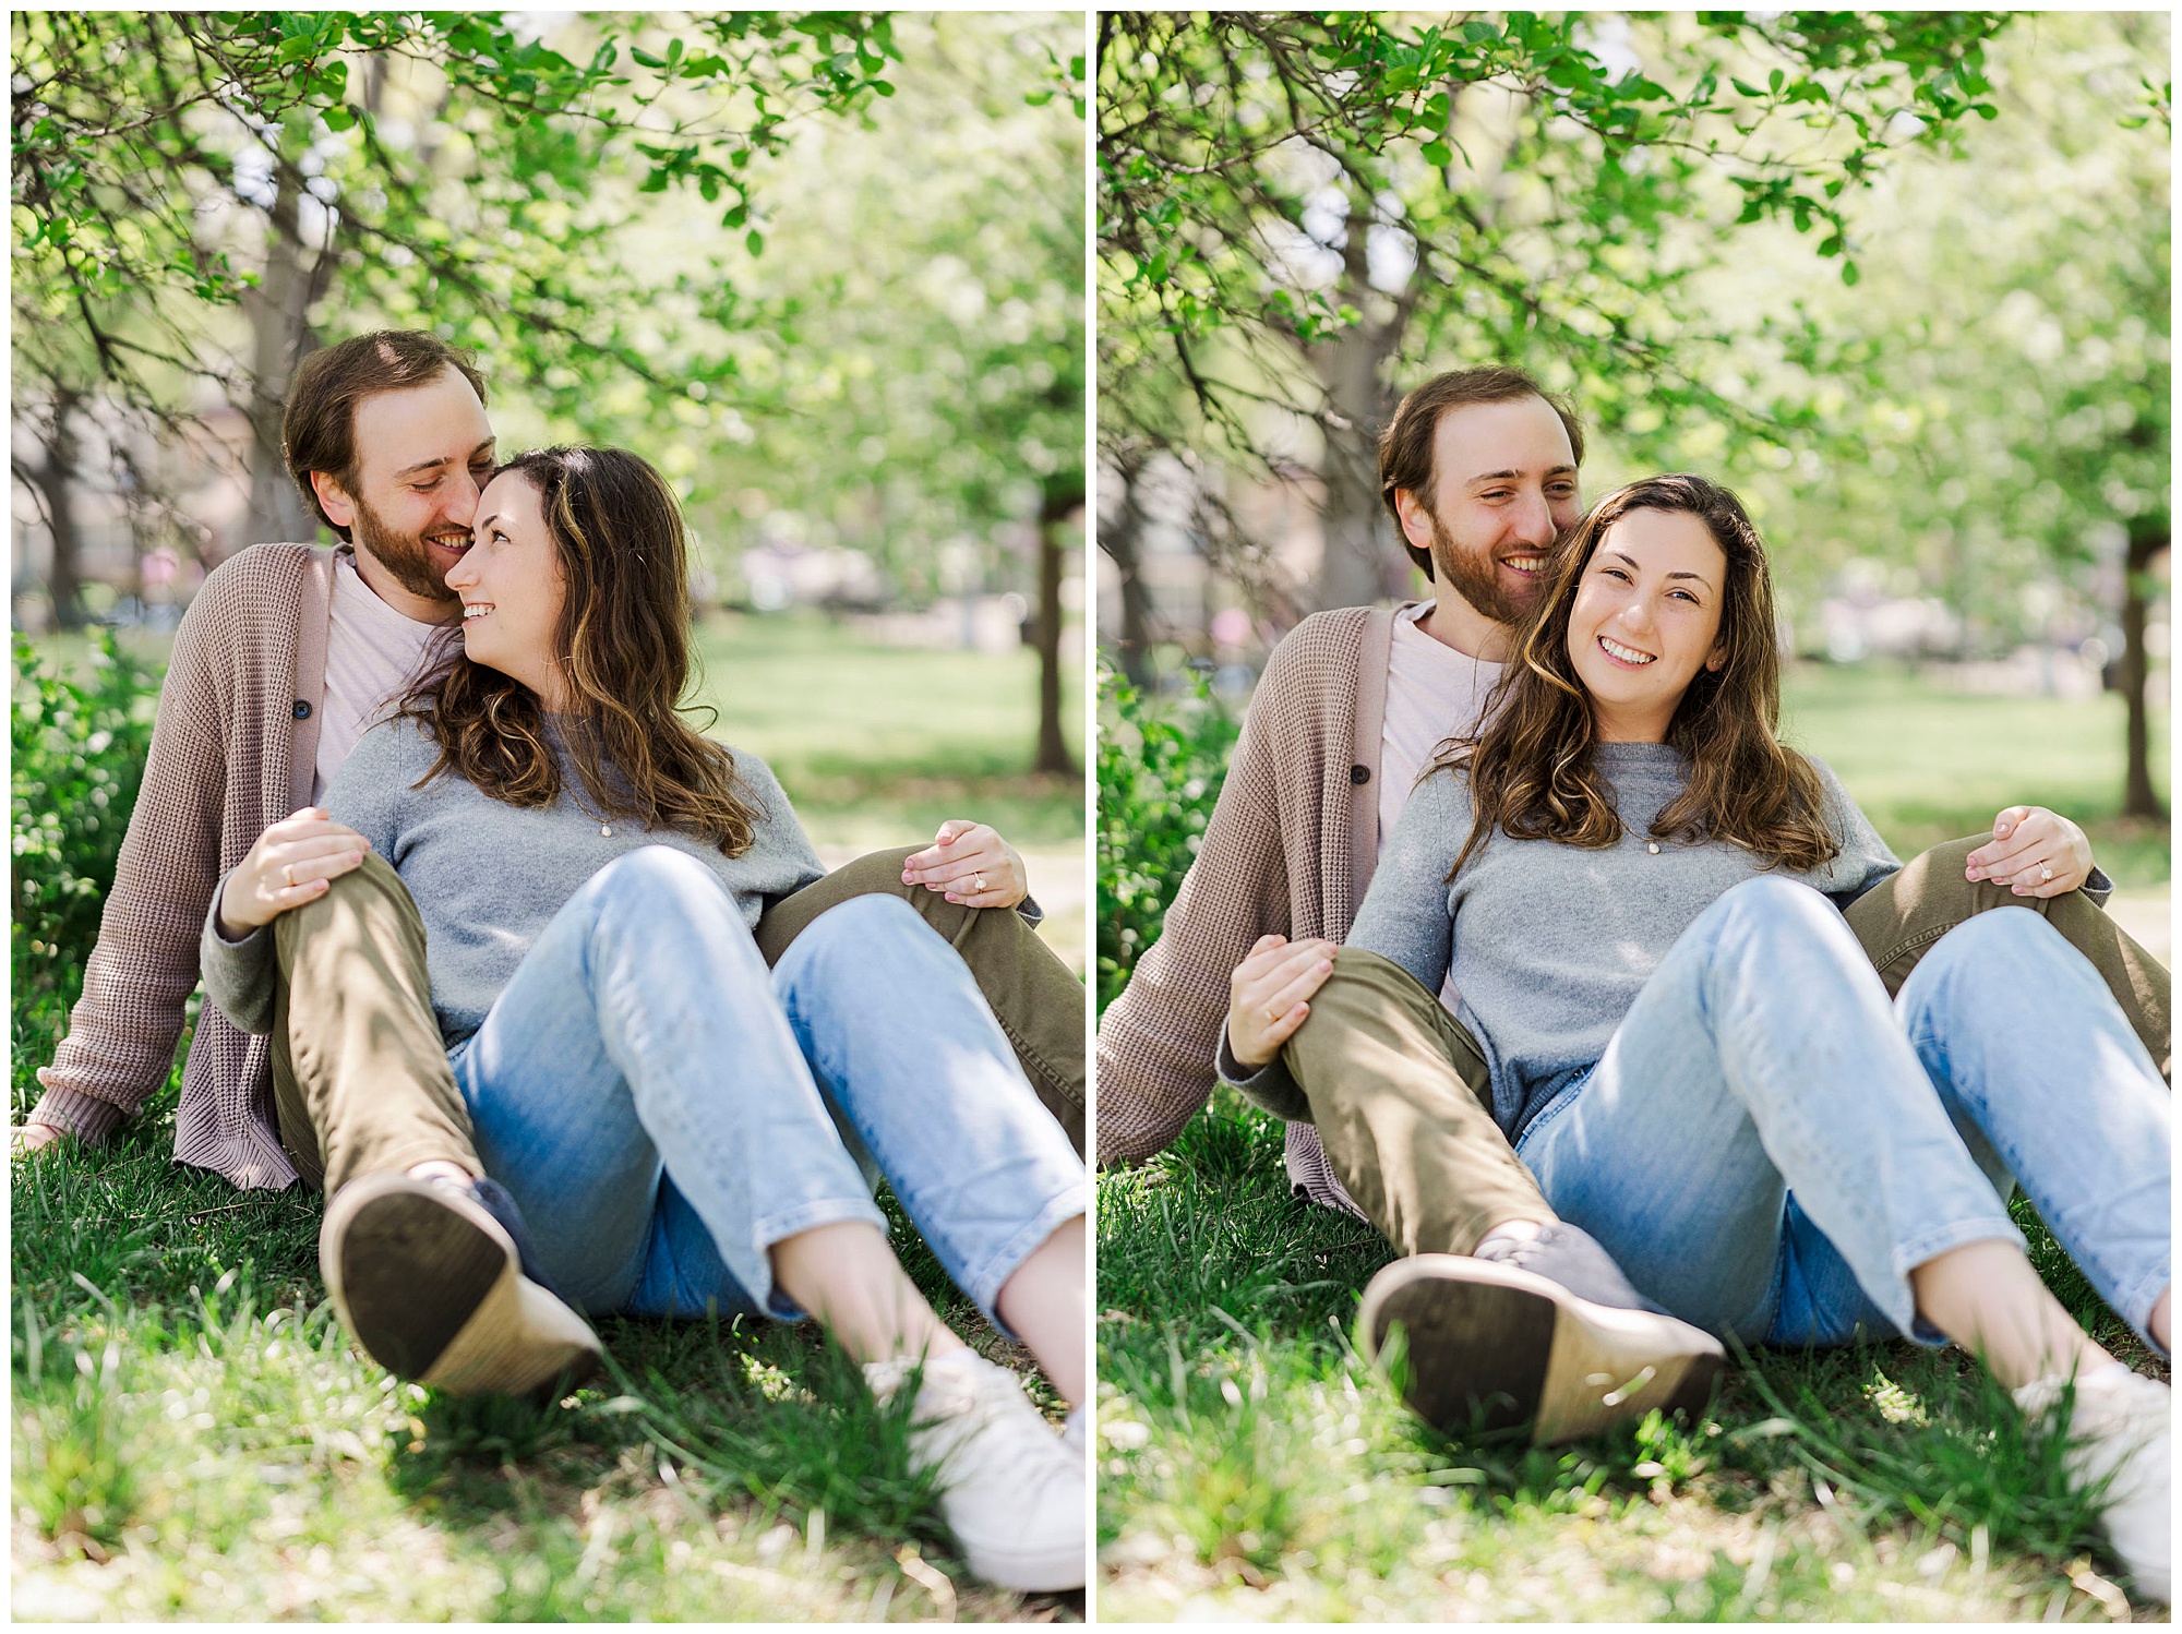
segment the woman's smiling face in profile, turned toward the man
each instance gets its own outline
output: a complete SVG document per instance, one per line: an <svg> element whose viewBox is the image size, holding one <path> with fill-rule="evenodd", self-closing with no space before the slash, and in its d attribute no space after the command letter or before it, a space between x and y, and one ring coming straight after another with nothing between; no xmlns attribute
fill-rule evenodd
<svg viewBox="0 0 2182 1634"><path fill-rule="evenodd" d="M521 471L493 478L478 495L469 552L447 569L447 589L463 598L463 648L471 663L500 670L530 687L546 709L563 707L561 554L546 526L537 484Z"/></svg>

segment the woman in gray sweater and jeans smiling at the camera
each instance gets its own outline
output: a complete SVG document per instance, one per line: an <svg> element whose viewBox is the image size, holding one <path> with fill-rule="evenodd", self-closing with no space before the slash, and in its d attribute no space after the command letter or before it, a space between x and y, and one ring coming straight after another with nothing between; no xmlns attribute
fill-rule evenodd
<svg viewBox="0 0 2182 1634"><path fill-rule="evenodd" d="M2167 1091L2099 975L1994 910L1890 1004L1835 901L1898 864L1774 735L1772 585L1724 489L1599 502L1514 652L1488 724L1412 796L1344 958L1392 960L1427 999L1453 975L1495 1121L1674 1315L1770 1344L1953 1339L2025 1407L2073 1379L2079 1475L2112 1473L2110 1538L2165 1599L2167 1385L2069 1318L2005 1206L2021 1182L2167 1353ZM2071 862L2038 866L2053 884Z"/></svg>

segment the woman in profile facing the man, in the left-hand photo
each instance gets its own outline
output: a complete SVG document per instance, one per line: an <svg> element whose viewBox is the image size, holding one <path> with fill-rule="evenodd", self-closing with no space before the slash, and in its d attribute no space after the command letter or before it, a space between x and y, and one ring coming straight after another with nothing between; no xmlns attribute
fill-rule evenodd
<svg viewBox="0 0 2182 1634"><path fill-rule="evenodd" d="M463 650L327 790L343 855L391 862L425 916L432 1006L526 1263L591 1313L816 1315L882 1396L921 1368L912 1455L945 1462L971 1569L1076 1588L1080 1442L938 1320L868 1172L1080 1403L1082 1163L908 903L840 903L768 973L759 912L823 868L766 766L676 713L685 582L679 506L642 458L502 467L447 574ZM223 890L229 934L288 894ZM207 936L205 980L240 1012L262 969Z"/></svg>

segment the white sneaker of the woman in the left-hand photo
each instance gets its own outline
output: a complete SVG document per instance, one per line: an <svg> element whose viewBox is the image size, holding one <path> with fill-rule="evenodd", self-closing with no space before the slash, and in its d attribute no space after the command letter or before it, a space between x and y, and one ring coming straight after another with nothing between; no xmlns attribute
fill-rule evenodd
<svg viewBox="0 0 2182 1634"><path fill-rule="evenodd" d="M871 1361L864 1381L890 1401L912 1366ZM943 1470L940 1516L973 1573L1023 1593L1084 1586L1084 1464L1012 1372L973 1350L927 1361L910 1422L910 1464Z"/></svg>

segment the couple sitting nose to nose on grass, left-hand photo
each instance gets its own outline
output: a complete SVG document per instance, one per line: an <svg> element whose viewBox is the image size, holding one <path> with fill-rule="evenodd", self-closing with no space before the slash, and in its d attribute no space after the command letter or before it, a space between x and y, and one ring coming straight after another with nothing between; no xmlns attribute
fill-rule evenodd
<svg viewBox="0 0 2182 1634"><path fill-rule="evenodd" d="M314 353L284 443L349 543L255 545L183 620L17 1143L166 1082L201 969L177 1158L323 1182L382 1366L528 1394L596 1361L585 1315L810 1313L877 1396L916 1383L969 1566L1080 1586L1080 1422L940 1322L873 1200L1087 1398L1084 997L1012 912L1021 860L949 822L827 875L766 766L681 718L674 493L618 449L495 469L436 338Z"/></svg>

